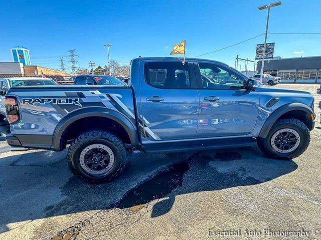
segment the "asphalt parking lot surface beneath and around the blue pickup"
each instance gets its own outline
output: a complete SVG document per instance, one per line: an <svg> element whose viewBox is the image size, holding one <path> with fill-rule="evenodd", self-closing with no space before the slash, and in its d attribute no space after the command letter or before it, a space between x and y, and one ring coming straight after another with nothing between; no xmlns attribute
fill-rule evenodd
<svg viewBox="0 0 321 240"><path fill-rule="evenodd" d="M120 177L92 185L72 175L65 151L10 152L1 137L0 239L214 239L229 230L238 239L321 239L319 84L277 87L315 97L310 145L290 161L258 147L133 152Z"/></svg>

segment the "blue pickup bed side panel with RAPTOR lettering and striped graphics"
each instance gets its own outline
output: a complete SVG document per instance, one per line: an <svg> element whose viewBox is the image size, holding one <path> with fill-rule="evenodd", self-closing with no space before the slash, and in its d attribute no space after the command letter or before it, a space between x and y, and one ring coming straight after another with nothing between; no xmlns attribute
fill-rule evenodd
<svg viewBox="0 0 321 240"><path fill-rule="evenodd" d="M119 85L60 85L11 87L21 119L11 124L15 135L52 136L57 124L80 108L101 107L123 114L135 125L133 91Z"/></svg>

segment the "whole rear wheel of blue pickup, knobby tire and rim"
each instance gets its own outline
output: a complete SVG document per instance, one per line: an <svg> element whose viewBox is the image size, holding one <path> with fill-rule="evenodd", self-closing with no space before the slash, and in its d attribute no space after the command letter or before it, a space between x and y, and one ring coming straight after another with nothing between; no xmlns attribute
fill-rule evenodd
<svg viewBox="0 0 321 240"><path fill-rule="evenodd" d="M72 173L90 183L112 180L123 170L126 160L124 143L108 131L82 133L70 144L67 153Z"/></svg>

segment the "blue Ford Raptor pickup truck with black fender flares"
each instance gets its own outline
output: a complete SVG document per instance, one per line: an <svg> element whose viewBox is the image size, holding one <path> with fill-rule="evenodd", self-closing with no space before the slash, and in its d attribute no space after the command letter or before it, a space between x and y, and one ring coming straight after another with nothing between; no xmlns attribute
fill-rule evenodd
<svg viewBox="0 0 321 240"><path fill-rule="evenodd" d="M314 127L309 92L260 86L207 59L140 57L122 85L9 89L12 150L61 151L83 180L111 180L127 150L179 152L258 144L269 157L292 159ZM148 163L146 163L148 164Z"/></svg>

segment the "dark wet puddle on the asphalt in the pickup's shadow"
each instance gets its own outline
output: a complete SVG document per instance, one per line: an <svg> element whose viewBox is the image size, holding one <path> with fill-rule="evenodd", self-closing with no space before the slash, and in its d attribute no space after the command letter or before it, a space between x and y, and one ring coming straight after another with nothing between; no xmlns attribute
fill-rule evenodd
<svg viewBox="0 0 321 240"><path fill-rule="evenodd" d="M185 172L190 168L188 161L176 163L154 177L131 189L118 201L116 207L139 211L143 204L171 193L182 186Z"/></svg>

